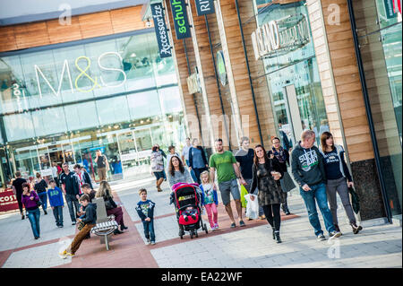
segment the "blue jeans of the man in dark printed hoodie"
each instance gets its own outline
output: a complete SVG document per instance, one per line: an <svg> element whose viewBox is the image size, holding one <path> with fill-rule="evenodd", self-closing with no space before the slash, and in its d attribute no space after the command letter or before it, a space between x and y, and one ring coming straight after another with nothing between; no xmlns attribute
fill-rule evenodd
<svg viewBox="0 0 403 286"><path fill-rule="evenodd" d="M333 217L331 216L331 212L328 205L328 198L326 196L326 185L321 183L311 187L311 191L305 192L301 187L299 188L299 193L304 199L306 210L309 215L309 222L313 226L315 230L315 235L319 236L323 234L321 222L319 221L318 212L316 211L316 203L319 206L319 209L322 212L323 221L325 223L326 230L330 233L334 231L333 225Z"/></svg>

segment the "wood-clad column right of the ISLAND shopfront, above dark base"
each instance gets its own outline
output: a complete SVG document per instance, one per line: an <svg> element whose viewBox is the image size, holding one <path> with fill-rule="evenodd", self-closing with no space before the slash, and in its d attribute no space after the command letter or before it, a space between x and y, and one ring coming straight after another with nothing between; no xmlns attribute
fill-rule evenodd
<svg viewBox="0 0 403 286"><path fill-rule="evenodd" d="M321 3L348 156L351 161L373 159L347 1L323 0ZM332 9L328 10L330 4L339 6L339 25L330 25L330 22L326 21L332 12ZM360 144L365 147L356 148Z"/></svg>

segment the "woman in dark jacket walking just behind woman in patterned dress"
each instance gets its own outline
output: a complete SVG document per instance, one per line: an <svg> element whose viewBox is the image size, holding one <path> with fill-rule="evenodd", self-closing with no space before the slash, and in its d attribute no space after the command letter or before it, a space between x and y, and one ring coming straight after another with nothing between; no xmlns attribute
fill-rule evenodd
<svg viewBox="0 0 403 286"><path fill-rule="evenodd" d="M288 174L286 174L287 173L287 164L289 166L289 153L286 149L281 147L281 142L278 137L274 137L273 139L271 139L271 143L273 144L273 147L269 151L268 155L269 155L270 159L275 160L276 163L279 165L279 167L281 168L281 171L284 173L282 178L285 178L285 176L289 176ZM289 212L288 205L287 205L287 190L283 190L281 195L282 195L282 200L284 201L284 203L281 204L281 209L283 210L284 213L289 215L289 214L291 214L291 212Z"/></svg>

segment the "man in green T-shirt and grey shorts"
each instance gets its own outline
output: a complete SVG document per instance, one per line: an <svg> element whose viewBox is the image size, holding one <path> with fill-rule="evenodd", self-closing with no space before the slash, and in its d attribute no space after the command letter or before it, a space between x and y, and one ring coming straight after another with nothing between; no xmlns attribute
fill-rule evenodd
<svg viewBox="0 0 403 286"><path fill-rule="evenodd" d="M210 157L210 178L214 182L214 177L217 169L217 178L219 181L219 192L221 193L222 204L226 206L226 211L229 219L232 221L231 228L236 227L234 214L232 213L230 195L235 200L236 212L238 212L239 225L243 227L242 221L242 204L241 194L239 193L238 183L236 178L240 179L240 183L245 185L246 182L242 178L242 174L236 164L236 159L232 152L224 151L222 139L217 139L215 142L216 153ZM215 184L214 184L215 185ZM215 188L215 186L213 186Z"/></svg>

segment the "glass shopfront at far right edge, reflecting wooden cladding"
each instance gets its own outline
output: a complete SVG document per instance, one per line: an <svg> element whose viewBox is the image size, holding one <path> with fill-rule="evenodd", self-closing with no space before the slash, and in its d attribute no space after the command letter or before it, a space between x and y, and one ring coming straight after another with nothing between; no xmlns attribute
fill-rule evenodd
<svg viewBox="0 0 403 286"><path fill-rule="evenodd" d="M402 23L391 0L352 1L356 38L391 215L402 205Z"/></svg>

